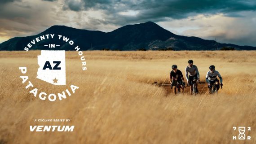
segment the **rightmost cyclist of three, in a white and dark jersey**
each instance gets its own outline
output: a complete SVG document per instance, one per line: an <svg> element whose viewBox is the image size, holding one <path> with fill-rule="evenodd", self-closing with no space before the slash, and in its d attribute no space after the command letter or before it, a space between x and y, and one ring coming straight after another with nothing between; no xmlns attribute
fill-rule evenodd
<svg viewBox="0 0 256 144"><path fill-rule="evenodd" d="M212 90L213 83L217 83L216 88L218 92L218 90L220 89L220 81L221 81L221 88L223 86L221 74L217 70L215 70L214 65L210 65L209 69L210 70L206 74L206 82L208 83L209 92L211 92ZM217 76L220 78L220 81L217 79Z"/></svg>

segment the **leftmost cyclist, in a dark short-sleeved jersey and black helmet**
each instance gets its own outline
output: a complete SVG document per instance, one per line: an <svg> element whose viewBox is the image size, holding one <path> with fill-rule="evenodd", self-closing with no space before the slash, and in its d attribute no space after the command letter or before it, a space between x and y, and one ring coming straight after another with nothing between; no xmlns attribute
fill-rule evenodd
<svg viewBox="0 0 256 144"><path fill-rule="evenodd" d="M183 74L181 70L178 70L177 68L178 68L177 65L172 65L172 71L170 73L170 83L172 84L171 87L174 86L173 88L174 94L176 94L175 86L177 85L177 83L181 84L182 92L184 92L184 87L185 87Z"/></svg>

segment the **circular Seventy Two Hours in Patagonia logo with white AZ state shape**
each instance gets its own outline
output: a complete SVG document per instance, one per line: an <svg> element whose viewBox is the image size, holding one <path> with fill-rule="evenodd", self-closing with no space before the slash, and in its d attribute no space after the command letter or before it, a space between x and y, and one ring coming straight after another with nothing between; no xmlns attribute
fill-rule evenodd
<svg viewBox="0 0 256 144"><path fill-rule="evenodd" d="M81 48L79 46L74 45L74 41L72 39L69 39L63 35L56 35L55 34L47 34L47 35L41 35L40 37L37 37L31 42L27 44L27 47L24 48L26 52L29 51L30 48L32 48L32 44L35 45L36 42L43 41L45 39L48 39L48 42L51 39L55 39L54 41L61 40L63 46L64 45L69 45L70 47L73 47L73 50L77 52L77 56L79 60L81 60L80 65L81 69L80 70L87 70L86 67L86 61L85 57L83 56L83 52L81 51ZM51 83L53 85L69 85L69 87L66 87L66 89L58 89L59 92L44 92L43 89L38 89L37 87L40 86L40 83L34 83L31 82L26 75L27 73L27 67L26 66L20 66L19 70L21 70L21 75L20 78L22 79L22 83L25 84L25 88L27 91L35 97L39 97L40 100L49 100L49 101L55 101L55 100L63 100L66 99L67 97L70 97L72 94L75 93L75 90L79 89L78 86L76 86L79 82L69 81L66 83L66 54L65 50L54 50L52 48L60 47L61 45L59 44L47 44L44 45L44 47L49 47L51 50L42 50L41 54L37 56L37 64L39 66L37 68L37 79L43 80L47 83ZM39 48L36 48L39 49ZM56 87L56 86L53 86Z"/></svg>

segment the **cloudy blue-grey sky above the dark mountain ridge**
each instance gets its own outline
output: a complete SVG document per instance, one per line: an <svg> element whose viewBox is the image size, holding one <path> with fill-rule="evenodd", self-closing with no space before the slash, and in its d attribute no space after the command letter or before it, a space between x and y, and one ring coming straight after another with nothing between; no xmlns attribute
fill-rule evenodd
<svg viewBox="0 0 256 144"><path fill-rule="evenodd" d="M53 25L109 32L148 21L177 35L256 46L256 0L0 0L0 43Z"/></svg>

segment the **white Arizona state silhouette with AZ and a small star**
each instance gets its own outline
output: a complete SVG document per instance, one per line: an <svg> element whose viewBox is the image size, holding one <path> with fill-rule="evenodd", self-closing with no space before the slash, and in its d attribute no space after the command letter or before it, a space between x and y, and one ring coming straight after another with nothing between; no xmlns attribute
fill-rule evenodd
<svg viewBox="0 0 256 144"><path fill-rule="evenodd" d="M37 60L37 79L54 85L66 85L65 51L41 51Z"/></svg>

